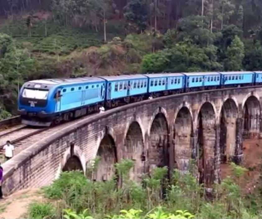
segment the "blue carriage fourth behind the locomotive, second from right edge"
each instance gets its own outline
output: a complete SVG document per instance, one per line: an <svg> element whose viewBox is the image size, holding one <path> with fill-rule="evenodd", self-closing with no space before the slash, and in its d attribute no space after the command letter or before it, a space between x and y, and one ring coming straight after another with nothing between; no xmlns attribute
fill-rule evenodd
<svg viewBox="0 0 262 219"><path fill-rule="evenodd" d="M254 72L220 72L221 88L252 86L255 82Z"/></svg>

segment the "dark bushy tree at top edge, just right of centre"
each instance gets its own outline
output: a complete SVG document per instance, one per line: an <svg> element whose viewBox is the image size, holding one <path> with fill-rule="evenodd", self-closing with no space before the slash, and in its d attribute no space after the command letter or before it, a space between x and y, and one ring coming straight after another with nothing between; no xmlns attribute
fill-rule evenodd
<svg viewBox="0 0 262 219"><path fill-rule="evenodd" d="M144 31L147 26L148 10L144 0L131 0L124 8L124 16L127 21L136 24L140 31Z"/></svg>

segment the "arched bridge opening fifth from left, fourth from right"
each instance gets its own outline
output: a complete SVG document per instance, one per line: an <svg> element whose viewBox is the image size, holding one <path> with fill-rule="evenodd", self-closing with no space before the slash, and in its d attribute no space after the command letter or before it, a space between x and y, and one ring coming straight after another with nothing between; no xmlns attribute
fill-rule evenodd
<svg viewBox="0 0 262 219"><path fill-rule="evenodd" d="M195 158L192 148L192 118L188 108L182 107L174 124L174 141L175 141L175 162L177 169L181 171L189 170L189 161Z"/></svg>

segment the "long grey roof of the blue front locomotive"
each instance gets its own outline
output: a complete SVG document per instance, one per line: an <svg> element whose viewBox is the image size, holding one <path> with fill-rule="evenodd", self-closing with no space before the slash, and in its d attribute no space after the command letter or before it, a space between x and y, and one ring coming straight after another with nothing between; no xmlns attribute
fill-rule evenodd
<svg viewBox="0 0 262 219"><path fill-rule="evenodd" d="M48 84L48 85L60 85L68 84L74 82L96 82L104 81L99 77L77 77L77 78L55 78L55 79L43 79L43 80L34 80L28 81L27 83L39 83L39 84Z"/></svg>

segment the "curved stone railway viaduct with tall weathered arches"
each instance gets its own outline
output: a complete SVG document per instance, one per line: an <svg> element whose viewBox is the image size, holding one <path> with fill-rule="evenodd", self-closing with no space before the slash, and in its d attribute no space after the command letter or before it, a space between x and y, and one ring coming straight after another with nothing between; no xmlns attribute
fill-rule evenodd
<svg viewBox="0 0 262 219"><path fill-rule="evenodd" d="M59 128L3 164L5 194L50 184L61 171L86 172L101 157L94 180L108 180L114 163L134 161L131 178L158 166L187 171L195 159L207 186L220 164L243 159L243 138L260 138L261 86L176 94L90 115Z"/></svg>

